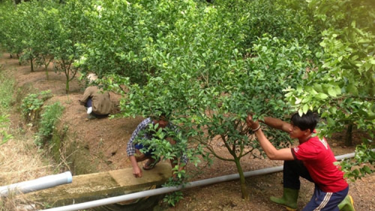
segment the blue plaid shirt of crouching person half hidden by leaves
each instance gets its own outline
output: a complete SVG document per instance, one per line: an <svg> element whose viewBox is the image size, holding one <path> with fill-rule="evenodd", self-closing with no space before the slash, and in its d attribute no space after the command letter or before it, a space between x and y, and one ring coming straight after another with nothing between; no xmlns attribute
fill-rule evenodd
<svg viewBox="0 0 375 211"><path fill-rule="evenodd" d="M153 123L153 122L152 122L152 119L150 117L148 117L148 118L143 119L143 121L141 121L138 124L138 126L135 128L135 130L131 134L131 137L130 137L129 141L127 142L127 147L126 147L127 156L133 156L135 154L134 140L138 136L138 133L140 131L142 131L144 129L148 129L148 125L150 123ZM169 129L172 129L172 130L176 130L178 132L178 130L176 129L176 127L174 125L170 124L170 123L168 123L166 125L166 127L168 127ZM144 132L143 133L143 138L151 139L152 135L150 135L148 132ZM180 161L184 162L184 163L187 163L187 156L186 156L186 154L183 154L181 156Z"/></svg>

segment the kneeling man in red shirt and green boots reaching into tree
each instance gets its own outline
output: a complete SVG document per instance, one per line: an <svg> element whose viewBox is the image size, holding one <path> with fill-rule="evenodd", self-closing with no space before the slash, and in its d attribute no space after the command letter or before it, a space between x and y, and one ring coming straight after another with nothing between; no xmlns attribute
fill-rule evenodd
<svg viewBox="0 0 375 211"><path fill-rule="evenodd" d="M333 162L336 161L325 138L314 136L318 116L312 111L299 116L294 113L291 122L277 118L264 117L263 123L288 132L297 138L299 145L293 148L276 149L265 137L258 121L248 115L246 124L255 133L260 146L269 159L285 160L283 168L283 195L270 197L270 200L283 205L287 210L296 210L300 187L299 176L315 183L311 200L302 211L354 211L351 196L347 195L349 186L343 172Z"/></svg>

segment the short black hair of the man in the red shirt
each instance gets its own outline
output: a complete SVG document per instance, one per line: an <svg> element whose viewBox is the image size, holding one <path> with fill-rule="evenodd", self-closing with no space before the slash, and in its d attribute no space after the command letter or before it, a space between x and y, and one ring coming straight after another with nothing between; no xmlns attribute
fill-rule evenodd
<svg viewBox="0 0 375 211"><path fill-rule="evenodd" d="M317 122L319 121L319 116L317 113L311 110L300 116L298 112L291 115L290 121L293 125L299 127L301 130L310 129L311 132L314 131Z"/></svg>

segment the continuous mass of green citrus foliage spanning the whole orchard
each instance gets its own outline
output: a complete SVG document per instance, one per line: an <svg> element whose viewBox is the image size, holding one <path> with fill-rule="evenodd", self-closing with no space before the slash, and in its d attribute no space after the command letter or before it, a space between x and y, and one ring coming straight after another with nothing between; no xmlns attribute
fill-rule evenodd
<svg viewBox="0 0 375 211"><path fill-rule="evenodd" d="M226 159L210 147L218 139L241 174L240 157L260 149L244 124L248 112L255 118L285 118L316 110L322 117L320 135L342 128L349 135L353 128L366 132L360 158L342 164L347 172L361 162L373 165L371 0L2 4L2 48L31 64L34 58L44 65L53 58L56 70L66 75L67 91L77 71L96 73L106 89L123 94L121 116L169 113L183 134L179 148L188 146L194 163L200 161L197 154ZM266 132L276 146L290 141L278 131ZM348 175L365 173L371 168ZM242 195L247 195L244 188Z"/></svg>

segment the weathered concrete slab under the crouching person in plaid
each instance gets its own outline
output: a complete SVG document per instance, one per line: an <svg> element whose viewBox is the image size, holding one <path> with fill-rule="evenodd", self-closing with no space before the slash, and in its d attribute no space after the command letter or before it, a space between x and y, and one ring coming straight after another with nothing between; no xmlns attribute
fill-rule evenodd
<svg viewBox="0 0 375 211"><path fill-rule="evenodd" d="M70 184L26 193L24 196L31 201L60 206L155 188L170 176L170 163L160 162L151 170L143 170L142 178L135 178L132 168L82 174L73 176Z"/></svg>

